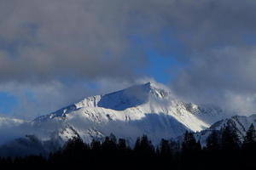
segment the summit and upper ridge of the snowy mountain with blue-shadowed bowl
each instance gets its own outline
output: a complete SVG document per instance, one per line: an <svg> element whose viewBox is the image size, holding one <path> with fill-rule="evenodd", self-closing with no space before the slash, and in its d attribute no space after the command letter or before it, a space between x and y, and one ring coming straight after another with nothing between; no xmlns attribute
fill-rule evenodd
<svg viewBox="0 0 256 170"><path fill-rule="evenodd" d="M62 116L63 114L83 107L102 107L114 111L124 111L131 107L143 105L147 103L149 99L167 99L171 96L171 91L164 85L156 82L147 82L110 94L87 97L55 113L58 116Z"/></svg>

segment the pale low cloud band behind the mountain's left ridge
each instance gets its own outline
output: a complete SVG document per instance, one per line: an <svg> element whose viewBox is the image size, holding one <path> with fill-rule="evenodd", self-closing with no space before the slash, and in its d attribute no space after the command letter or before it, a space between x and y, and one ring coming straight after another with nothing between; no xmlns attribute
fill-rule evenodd
<svg viewBox="0 0 256 170"><path fill-rule="evenodd" d="M145 80L139 82L145 82ZM3 116L8 114L8 116L32 120L37 116L42 116L79 102L85 97L108 94L127 88L134 83L137 82L109 79L101 79L96 82L80 81L68 83L52 81L37 85L6 82L0 84L0 91L14 96L17 102L12 111L2 114Z"/></svg>

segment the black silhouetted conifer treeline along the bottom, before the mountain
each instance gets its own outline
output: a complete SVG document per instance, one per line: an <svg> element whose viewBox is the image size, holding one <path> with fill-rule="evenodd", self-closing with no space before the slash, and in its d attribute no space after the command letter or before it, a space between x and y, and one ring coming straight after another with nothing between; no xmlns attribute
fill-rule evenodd
<svg viewBox="0 0 256 170"><path fill-rule="evenodd" d="M254 166L256 154L253 124L242 141L232 127L212 131L203 147L190 132L184 133L181 143L162 139L158 146L144 135L132 148L113 134L103 142L93 140L91 144L76 137L48 157L1 158L0 167L247 169Z"/></svg>

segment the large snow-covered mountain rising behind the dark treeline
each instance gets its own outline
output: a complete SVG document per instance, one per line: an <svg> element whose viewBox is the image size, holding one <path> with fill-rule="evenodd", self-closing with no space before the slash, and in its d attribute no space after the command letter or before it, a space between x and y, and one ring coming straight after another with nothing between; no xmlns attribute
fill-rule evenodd
<svg viewBox="0 0 256 170"><path fill-rule="evenodd" d="M216 107L184 103L165 86L148 82L83 99L31 123L41 130L47 127L45 132L64 141L79 135L90 142L110 133L131 141L147 134L158 141L175 138L186 130L201 131L224 116Z"/></svg>

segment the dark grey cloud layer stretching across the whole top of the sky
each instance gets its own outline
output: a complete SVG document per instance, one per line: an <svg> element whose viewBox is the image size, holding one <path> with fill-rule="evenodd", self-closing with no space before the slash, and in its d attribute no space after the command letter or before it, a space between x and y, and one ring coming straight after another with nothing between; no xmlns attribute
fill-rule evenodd
<svg viewBox="0 0 256 170"><path fill-rule="evenodd" d="M241 45L254 35L254 8L250 0L1 1L0 77L129 77L147 64L130 37L159 51L166 30L189 52Z"/></svg>

